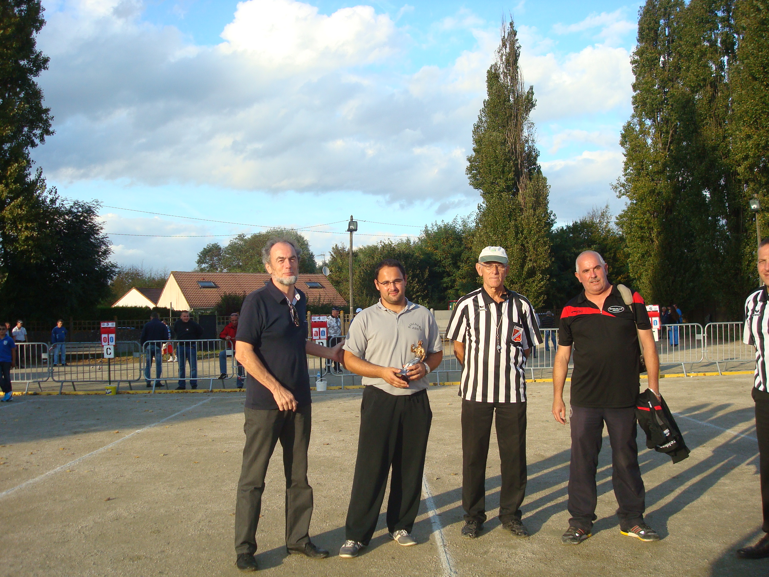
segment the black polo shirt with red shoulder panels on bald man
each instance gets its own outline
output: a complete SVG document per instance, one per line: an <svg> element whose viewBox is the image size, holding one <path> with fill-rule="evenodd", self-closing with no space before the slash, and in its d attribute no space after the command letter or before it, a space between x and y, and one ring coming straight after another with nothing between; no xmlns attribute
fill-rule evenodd
<svg viewBox="0 0 769 577"><path fill-rule="evenodd" d="M638 378L638 329L651 329L644 299L633 292L625 305L612 285L604 308L598 309L582 291L561 312L558 343L572 347L571 405L621 409L634 407L641 387Z"/></svg>

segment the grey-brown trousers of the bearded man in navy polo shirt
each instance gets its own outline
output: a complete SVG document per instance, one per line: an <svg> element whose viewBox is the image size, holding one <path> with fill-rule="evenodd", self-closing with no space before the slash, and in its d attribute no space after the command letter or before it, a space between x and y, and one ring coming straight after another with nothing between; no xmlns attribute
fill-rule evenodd
<svg viewBox="0 0 769 577"><path fill-rule="evenodd" d="M310 444L312 406L296 412L245 409L245 447L235 503L235 552L256 552L256 528L261 512L265 475L278 440L283 448L286 479L286 545L310 541L312 487L307 480L307 448Z"/></svg>

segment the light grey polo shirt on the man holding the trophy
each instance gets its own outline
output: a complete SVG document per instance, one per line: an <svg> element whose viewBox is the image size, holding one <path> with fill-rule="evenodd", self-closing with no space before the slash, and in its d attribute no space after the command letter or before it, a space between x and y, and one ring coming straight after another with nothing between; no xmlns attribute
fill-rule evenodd
<svg viewBox="0 0 769 577"><path fill-rule="evenodd" d="M416 356L411 345L419 341L428 355L442 350L441 333L432 313L411 301L406 301L401 312L394 312L380 300L355 316L343 349L374 365L402 367ZM398 389L384 379L363 377L364 385L373 385L391 395L414 395L427 389L429 383L425 375L411 381L408 389Z"/></svg>

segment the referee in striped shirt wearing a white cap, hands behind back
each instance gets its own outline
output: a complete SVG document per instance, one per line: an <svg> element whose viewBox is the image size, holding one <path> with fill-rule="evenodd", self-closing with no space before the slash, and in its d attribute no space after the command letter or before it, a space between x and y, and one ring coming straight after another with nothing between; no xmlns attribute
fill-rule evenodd
<svg viewBox="0 0 769 577"><path fill-rule="evenodd" d="M486 520L486 459L496 413L502 482L499 520L514 537L528 537L521 522L526 492L526 359L541 344L537 316L523 295L508 290L508 254L481 251L475 270L483 287L458 300L446 329L462 364L462 535L474 538Z"/></svg>

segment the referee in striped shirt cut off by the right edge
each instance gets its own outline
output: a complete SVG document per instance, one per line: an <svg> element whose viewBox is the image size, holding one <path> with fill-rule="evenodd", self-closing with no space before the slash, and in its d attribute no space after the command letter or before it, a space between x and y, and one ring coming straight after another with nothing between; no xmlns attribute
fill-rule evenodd
<svg viewBox="0 0 769 577"><path fill-rule="evenodd" d="M769 238L758 245L758 275L764 286L745 301L745 327L742 340L756 348L756 370L751 395L756 403L756 436L758 438L759 471L761 472L761 505L764 509L764 536L753 546L737 549L742 559L769 557Z"/></svg>

